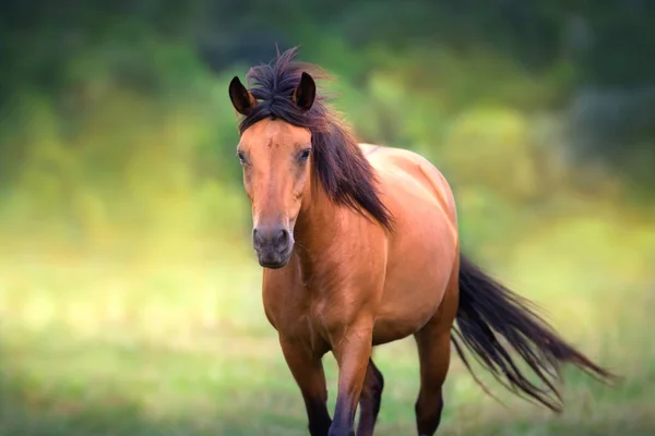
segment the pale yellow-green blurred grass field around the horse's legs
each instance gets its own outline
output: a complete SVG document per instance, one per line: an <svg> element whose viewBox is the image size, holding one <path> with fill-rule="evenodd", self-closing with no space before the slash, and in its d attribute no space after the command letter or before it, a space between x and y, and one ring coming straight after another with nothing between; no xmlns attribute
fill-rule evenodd
<svg viewBox="0 0 655 436"><path fill-rule="evenodd" d="M564 242L553 234L550 243L561 249ZM626 253L636 256L634 247ZM558 416L489 382L500 404L454 359L440 434L655 434L655 342L648 334L655 328L655 300L645 278L635 282L633 269L596 265L590 274L569 267L569 281L590 283L585 292L572 293L559 287L567 277L544 277L556 267L522 256L547 258L548 247L516 250L524 261L503 269L521 281L511 284L520 284L563 335L626 379L609 389L567 371L567 410ZM0 436L306 435L300 396L263 314L260 275L241 254L178 265L5 258L0 264ZM331 356L325 362L332 408L336 367ZM377 434L413 435L414 343L381 347L377 362L386 379Z"/></svg>

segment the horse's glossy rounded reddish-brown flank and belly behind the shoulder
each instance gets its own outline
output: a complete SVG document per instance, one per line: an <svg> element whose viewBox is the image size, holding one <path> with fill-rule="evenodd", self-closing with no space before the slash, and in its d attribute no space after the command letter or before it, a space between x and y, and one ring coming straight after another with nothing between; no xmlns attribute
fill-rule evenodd
<svg viewBox="0 0 655 436"><path fill-rule="evenodd" d="M376 169L381 198L395 222L376 327L377 342L385 342L397 339L385 325L397 336L401 330L412 334L438 310L458 253L456 209L448 181L420 155L372 144L360 147Z"/></svg>

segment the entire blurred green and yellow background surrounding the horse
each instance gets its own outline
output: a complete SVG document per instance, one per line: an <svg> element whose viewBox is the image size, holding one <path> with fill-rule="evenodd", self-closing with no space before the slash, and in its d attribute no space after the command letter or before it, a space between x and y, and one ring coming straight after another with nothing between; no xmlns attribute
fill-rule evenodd
<svg viewBox="0 0 655 436"><path fill-rule="evenodd" d="M275 45L335 76L362 142L438 166L466 252L624 376L567 372L556 416L455 358L440 434L655 434L654 22L647 0L4 1L0 435L306 434L227 96ZM377 434L414 434L413 341L377 360Z"/></svg>

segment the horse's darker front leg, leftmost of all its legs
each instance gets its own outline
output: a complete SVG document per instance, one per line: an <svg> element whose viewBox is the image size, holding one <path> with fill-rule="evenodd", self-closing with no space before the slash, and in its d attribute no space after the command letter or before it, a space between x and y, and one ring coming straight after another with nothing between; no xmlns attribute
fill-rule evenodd
<svg viewBox="0 0 655 436"><path fill-rule="evenodd" d="M311 436L326 436L332 420L327 411L327 388L323 362L300 343L279 338L282 351L294 379L300 388Z"/></svg>

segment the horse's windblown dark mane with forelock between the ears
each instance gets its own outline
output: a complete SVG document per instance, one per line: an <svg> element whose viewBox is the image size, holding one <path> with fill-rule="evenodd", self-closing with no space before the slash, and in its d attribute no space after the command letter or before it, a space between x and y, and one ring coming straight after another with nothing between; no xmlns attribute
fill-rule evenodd
<svg viewBox="0 0 655 436"><path fill-rule="evenodd" d="M374 170L348 126L337 112L326 106L326 96L317 90L315 100L306 112L291 100L302 72L314 80L329 78L318 66L295 61L296 52L297 48L282 55L278 51L271 63L248 71L246 78L252 85L249 92L258 105L241 120L239 132L242 134L265 118L278 118L309 129L312 134L313 173L327 196L358 213L368 211L391 230L393 218L379 197Z"/></svg>

